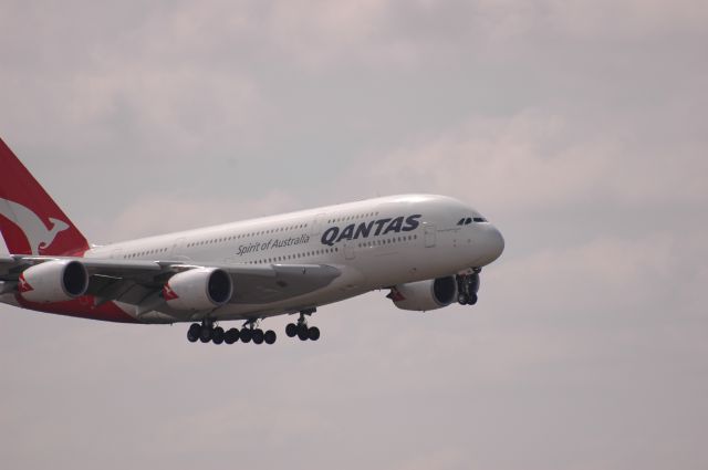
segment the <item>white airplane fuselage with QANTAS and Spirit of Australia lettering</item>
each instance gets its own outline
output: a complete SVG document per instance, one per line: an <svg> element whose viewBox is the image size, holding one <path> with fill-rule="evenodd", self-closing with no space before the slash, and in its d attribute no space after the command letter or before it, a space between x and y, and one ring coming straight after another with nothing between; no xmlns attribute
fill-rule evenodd
<svg viewBox="0 0 708 470"><path fill-rule="evenodd" d="M219 265L329 264L342 272L309 294L267 304L229 303L211 313L218 320L235 320L298 312L481 268L502 250L499 231L469 206L442 196L404 195L126 241L93 248L85 257ZM186 312L158 310L176 321L194 320Z"/></svg>

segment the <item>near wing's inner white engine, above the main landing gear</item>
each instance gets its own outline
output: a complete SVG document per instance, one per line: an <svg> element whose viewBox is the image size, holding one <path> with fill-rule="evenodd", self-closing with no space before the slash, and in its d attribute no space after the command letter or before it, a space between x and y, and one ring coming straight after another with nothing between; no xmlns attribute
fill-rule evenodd
<svg viewBox="0 0 708 470"><path fill-rule="evenodd" d="M195 268L173 275L163 286L163 297L176 310L209 310L231 300L233 283L218 268Z"/></svg>

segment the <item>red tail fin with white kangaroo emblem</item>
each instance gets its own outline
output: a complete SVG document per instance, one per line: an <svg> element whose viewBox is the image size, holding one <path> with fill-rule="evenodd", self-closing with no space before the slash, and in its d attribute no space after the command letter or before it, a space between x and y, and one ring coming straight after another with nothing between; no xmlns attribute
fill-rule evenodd
<svg viewBox="0 0 708 470"><path fill-rule="evenodd" d="M80 254L88 243L0 139L0 233L12 254Z"/></svg>

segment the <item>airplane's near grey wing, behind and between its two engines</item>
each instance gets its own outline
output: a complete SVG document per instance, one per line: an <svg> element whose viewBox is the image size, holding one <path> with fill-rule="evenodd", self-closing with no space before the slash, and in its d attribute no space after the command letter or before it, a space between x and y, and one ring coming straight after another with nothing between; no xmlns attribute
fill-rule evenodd
<svg viewBox="0 0 708 470"><path fill-rule="evenodd" d="M231 278L233 294L229 303L256 305L316 291L341 275L339 269L327 264L186 264L184 261L11 255L0 258L0 293L14 290L25 269L53 260L79 261L90 275L86 294L95 296L97 303L118 301L136 305L138 314L164 304L160 293L173 275L198 268L217 268Z"/></svg>

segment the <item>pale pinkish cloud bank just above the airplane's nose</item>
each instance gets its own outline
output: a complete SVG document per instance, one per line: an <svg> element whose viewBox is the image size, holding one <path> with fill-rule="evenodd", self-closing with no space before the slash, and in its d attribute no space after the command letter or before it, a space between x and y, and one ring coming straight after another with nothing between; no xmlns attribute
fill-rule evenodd
<svg viewBox="0 0 708 470"><path fill-rule="evenodd" d="M533 111L471 118L428 140L373 155L354 173L368 171L373 188L451 194L504 211L706 201L702 139L667 155L627 135L627 122L592 129L587 124Z"/></svg>

